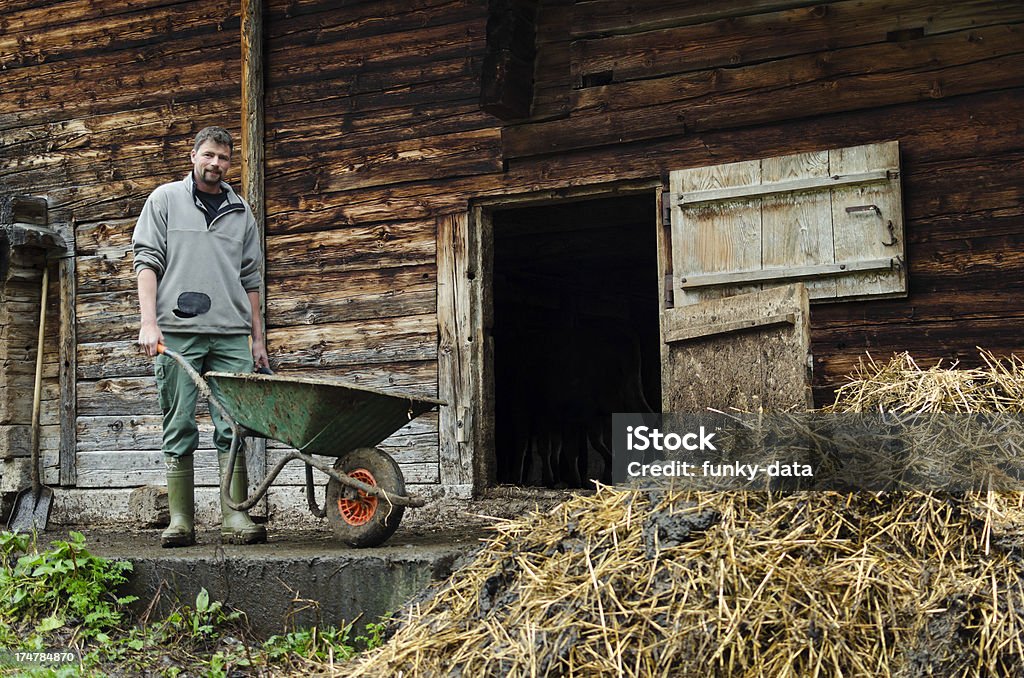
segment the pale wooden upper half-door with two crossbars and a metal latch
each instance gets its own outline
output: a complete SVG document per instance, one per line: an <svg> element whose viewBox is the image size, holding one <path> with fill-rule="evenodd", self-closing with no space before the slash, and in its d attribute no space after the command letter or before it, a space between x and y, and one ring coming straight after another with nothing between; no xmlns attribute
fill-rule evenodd
<svg viewBox="0 0 1024 678"><path fill-rule="evenodd" d="M896 141L674 171L668 200L677 306L795 281L906 294Z"/></svg>

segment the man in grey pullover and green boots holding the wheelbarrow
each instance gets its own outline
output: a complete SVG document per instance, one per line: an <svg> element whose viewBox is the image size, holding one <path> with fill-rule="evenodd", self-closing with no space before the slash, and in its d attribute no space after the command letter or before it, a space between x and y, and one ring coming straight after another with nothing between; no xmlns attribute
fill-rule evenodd
<svg viewBox="0 0 1024 678"><path fill-rule="evenodd" d="M132 235L141 321L138 343L151 357L162 343L200 373L248 373L254 363L268 367L259 314L262 252L256 220L224 181L232 149L227 130L201 130L193 145L191 172L153 192ZM171 513L161 544L190 546L196 543L193 454L199 446L198 389L167 355L157 356L156 373ZM211 414L223 477L231 431L216 412ZM240 453L230 497L239 502L247 493L246 464ZM247 513L231 510L223 499L220 509L224 541L266 541L266 531Z"/></svg>

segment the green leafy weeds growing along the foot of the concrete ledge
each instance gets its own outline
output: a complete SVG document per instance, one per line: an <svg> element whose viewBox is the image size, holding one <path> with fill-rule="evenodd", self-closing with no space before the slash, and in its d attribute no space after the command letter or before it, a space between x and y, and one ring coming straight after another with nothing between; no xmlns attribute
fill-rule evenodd
<svg viewBox="0 0 1024 678"><path fill-rule="evenodd" d="M191 605L135 624L126 607L135 598L116 593L131 568L130 562L89 553L80 533L43 550L34 535L0 533L0 650L74 647L82 658L75 666L22 666L17 675L301 674L346 662L383 641L384 624L368 624L354 638L352 624L345 624L246 640L245 616L211 600L206 589Z"/></svg>

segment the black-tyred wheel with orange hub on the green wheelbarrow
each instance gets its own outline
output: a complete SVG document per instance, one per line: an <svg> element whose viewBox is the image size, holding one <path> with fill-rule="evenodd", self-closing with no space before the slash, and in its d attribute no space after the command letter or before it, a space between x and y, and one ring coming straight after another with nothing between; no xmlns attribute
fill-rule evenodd
<svg viewBox="0 0 1024 678"><path fill-rule="evenodd" d="M389 495L404 495L406 480L390 455L375 448L352 450L338 459L334 468L356 480L381 488ZM394 534L404 506L351 491L331 478L327 483L327 518L341 541L357 548L383 544Z"/></svg>

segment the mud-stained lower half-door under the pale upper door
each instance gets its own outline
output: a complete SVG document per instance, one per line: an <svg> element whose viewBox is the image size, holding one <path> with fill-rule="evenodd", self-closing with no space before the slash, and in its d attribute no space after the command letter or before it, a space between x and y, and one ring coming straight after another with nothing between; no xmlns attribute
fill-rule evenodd
<svg viewBox="0 0 1024 678"><path fill-rule="evenodd" d="M792 325L774 322L791 314ZM741 333L667 343L663 411L777 412L812 407L809 316L807 290L799 283L667 309L664 337L743 321L753 325Z"/></svg>

